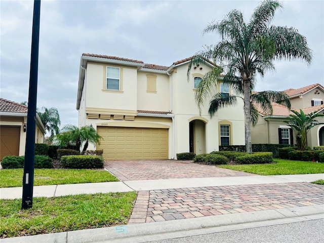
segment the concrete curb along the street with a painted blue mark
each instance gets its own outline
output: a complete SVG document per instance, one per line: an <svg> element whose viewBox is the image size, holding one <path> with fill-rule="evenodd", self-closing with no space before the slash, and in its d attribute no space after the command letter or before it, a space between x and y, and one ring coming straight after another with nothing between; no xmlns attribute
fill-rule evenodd
<svg viewBox="0 0 324 243"><path fill-rule="evenodd" d="M1 242L136 243L322 218L324 218L324 207L316 205L14 237L1 239Z"/></svg>

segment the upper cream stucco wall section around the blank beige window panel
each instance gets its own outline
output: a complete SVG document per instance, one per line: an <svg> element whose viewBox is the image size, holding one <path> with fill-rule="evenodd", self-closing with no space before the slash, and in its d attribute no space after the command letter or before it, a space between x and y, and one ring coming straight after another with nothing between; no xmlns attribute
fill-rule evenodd
<svg viewBox="0 0 324 243"><path fill-rule="evenodd" d="M147 75L156 75L156 92L147 91ZM137 110L170 110L170 81L167 74L138 72Z"/></svg>

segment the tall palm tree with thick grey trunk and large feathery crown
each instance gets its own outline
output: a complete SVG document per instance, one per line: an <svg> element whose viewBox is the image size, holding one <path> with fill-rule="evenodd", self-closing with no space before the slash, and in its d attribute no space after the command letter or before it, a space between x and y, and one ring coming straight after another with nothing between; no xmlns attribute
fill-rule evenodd
<svg viewBox="0 0 324 243"><path fill-rule="evenodd" d="M255 9L248 23L238 10L232 10L222 21L209 24L204 33L216 31L221 42L205 48L192 57L191 65L212 60L223 66L225 83L238 87L244 97L245 143L246 151L252 152L251 143L251 91L256 85L256 75L262 77L267 71L275 70L274 60L304 60L308 65L312 61L312 51L306 37L297 29L270 25L276 10L282 5L278 1L266 0ZM196 102L201 104L207 95L217 86L222 69L215 67L203 78L200 96ZM236 84L236 85L235 85ZM252 106L252 110L253 110Z"/></svg>

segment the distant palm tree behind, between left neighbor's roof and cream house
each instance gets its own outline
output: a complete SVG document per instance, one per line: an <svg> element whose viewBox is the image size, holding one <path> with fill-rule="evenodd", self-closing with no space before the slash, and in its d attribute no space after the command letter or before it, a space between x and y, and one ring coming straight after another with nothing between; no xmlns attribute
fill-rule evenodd
<svg viewBox="0 0 324 243"><path fill-rule="evenodd" d="M50 133L51 137L60 133L60 114L55 107L49 109L46 107L42 107L41 111L37 109L37 113L39 118L41 118L45 129Z"/></svg>

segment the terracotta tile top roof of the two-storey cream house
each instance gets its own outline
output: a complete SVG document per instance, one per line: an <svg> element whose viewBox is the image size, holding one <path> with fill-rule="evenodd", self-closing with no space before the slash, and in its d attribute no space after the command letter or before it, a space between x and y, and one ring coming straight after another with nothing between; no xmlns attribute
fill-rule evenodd
<svg viewBox="0 0 324 243"><path fill-rule="evenodd" d="M167 71L168 68L170 68L172 65L178 65L178 64L181 64L181 63L184 63L184 62L187 62L187 61L191 60L191 57L188 57L188 58L181 59L179 61L174 62L171 66L161 66L161 65L156 65L156 64L144 63L143 61L129 59L129 58L123 58L123 57L114 57L114 56L91 54L91 53L83 53L82 56L83 57L98 57L98 58L106 58L106 59L125 61L125 62L141 63L141 64L144 64L143 68L153 69L153 70L162 70L162 71ZM205 59L205 61L209 62L212 65L215 65L210 60Z"/></svg>

